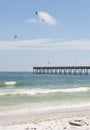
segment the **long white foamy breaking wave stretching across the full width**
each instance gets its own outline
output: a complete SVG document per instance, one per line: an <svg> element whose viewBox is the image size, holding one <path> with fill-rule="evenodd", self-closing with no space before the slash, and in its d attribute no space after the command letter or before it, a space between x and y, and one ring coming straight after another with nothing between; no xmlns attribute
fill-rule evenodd
<svg viewBox="0 0 90 130"><path fill-rule="evenodd" d="M0 91L0 95L41 95L50 93L79 93L88 92L90 88L79 87L79 88L67 88L67 89L15 89L9 91Z"/></svg>

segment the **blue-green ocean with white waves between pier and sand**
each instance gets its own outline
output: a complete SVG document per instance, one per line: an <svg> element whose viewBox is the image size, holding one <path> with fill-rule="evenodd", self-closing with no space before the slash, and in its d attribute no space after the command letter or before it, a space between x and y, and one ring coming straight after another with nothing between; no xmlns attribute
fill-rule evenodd
<svg viewBox="0 0 90 130"><path fill-rule="evenodd" d="M90 106L90 74L0 72L0 114Z"/></svg>

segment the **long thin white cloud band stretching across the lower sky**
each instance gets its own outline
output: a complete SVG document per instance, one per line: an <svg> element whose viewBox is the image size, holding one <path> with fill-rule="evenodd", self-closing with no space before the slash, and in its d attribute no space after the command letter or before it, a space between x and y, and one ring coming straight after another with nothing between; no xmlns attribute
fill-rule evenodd
<svg viewBox="0 0 90 130"><path fill-rule="evenodd" d="M0 41L0 50L90 50L90 40L33 39Z"/></svg>

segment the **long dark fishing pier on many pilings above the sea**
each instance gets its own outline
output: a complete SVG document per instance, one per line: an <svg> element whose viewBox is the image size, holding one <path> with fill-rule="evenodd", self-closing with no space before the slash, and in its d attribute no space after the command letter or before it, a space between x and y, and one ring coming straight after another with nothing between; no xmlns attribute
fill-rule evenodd
<svg viewBox="0 0 90 130"><path fill-rule="evenodd" d="M90 66L36 66L33 67L34 74L69 74L88 75Z"/></svg>

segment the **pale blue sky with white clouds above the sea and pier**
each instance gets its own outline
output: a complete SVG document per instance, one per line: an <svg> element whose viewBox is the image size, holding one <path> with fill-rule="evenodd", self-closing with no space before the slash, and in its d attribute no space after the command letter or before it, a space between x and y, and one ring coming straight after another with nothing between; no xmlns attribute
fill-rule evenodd
<svg viewBox="0 0 90 130"><path fill-rule="evenodd" d="M0 71L63 65L90 65L90 0L0 0Z"/></svg>

